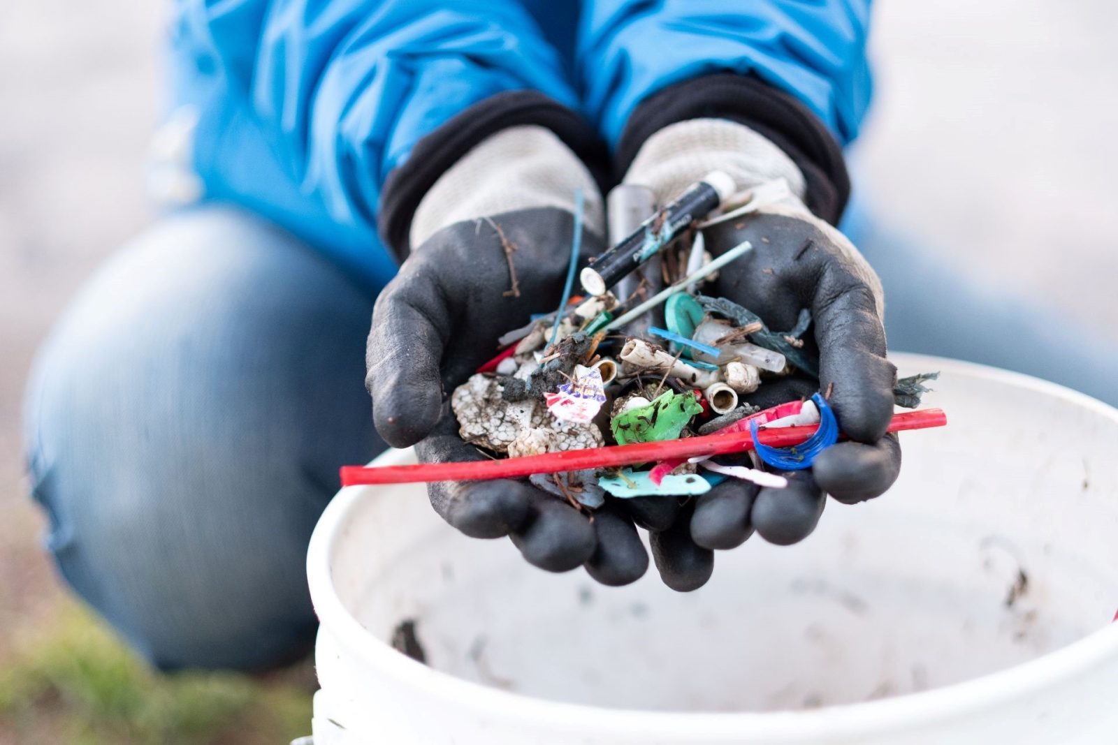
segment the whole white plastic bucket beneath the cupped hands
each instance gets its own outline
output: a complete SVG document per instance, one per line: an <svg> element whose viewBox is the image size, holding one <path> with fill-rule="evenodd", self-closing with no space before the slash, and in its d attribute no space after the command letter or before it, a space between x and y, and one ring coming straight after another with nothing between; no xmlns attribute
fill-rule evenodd
<svg viewBox="0 0 1118 745"><path fill-rule="evenodd" d="M719 552L690 594L536 570L421 485L343 489L307 560L316 745L1118 742L1118 411L896 360L942 371L948 428L902 436L888 495ZM388 643L407 619L426 666Z"/></svg>

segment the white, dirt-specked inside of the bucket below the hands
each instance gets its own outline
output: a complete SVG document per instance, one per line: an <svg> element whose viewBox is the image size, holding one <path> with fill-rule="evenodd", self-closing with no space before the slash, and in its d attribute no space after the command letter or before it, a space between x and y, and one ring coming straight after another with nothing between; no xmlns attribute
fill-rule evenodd
<svg viewBox="0 0 1118 745"><path fill-rule="evenodd" d="M949 426L901 436L901 478L831 502L800 544L751 537L703 589L655 569L627 588L525 564L457 534L425 487L369 489L331 547L344 606L427 663L551 700L767 711L865 701L1002 670L1106 627L1118 609L1118 416L1029 379L942 370ZM399 453L390 457L399 458Z"/></svg>

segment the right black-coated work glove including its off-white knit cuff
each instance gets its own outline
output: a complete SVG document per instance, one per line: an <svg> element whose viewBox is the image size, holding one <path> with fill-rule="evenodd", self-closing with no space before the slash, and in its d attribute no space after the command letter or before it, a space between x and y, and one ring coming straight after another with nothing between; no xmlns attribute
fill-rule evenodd
<svg viewBox="0 0 1118 745"><path fill-rule="evenodd" d="M743 399L768 408L819 390L851 440L824 450L813 468L785 474L787 488L728 479L700 496L681 516L685 525L654 539L670 539L674 556L693 556L686 575L657 561L667 584L701 584L705 579L697 567L709 576L712 550L733 548L754 531L776 544L802 541L815 528L826 494L847 504L870 499L884 493L900 470L897 437L885 434L896 369L885 360L881 284L850 241L804 206L805 179L797 165L742 124L690 120L648 137L625 181L651 187L664 203L716 169L735 176L742 190L784 179L790 193L703 231L714 256L745 240L754 247L721 269L704 292L752 311L777 332L793 328L800 309L808 308L814 338L806 341L819 354L817 382L805 374L767 379Z"/></svg>

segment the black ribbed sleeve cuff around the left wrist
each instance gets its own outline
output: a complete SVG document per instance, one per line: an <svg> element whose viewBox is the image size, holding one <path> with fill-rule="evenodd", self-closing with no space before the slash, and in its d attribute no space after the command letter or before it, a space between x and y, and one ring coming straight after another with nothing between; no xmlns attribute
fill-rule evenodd
<svg viewBox="0 0 1118 745"><path fill-rule="evenodd" d="M594 128L576 112L536 90L506 90L480 101L421 139L385 181L377 214L380 238L402 261L411 247L411 218L424 194L447 169L485 137L511 126L551 130L586 164L605 193L608 154Z"/></svg>

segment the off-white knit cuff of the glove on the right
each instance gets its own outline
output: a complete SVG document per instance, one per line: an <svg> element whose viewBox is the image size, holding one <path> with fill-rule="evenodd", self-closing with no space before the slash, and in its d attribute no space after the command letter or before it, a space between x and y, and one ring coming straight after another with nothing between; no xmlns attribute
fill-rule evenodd
<svg viewBox="0 0 1118 745"><path fill-rule="evenodd" d="M648 187L665 204L711 171L733 179L735 191L784 179L804 198L804 174L784 151L743 124L697 118L669 124L641 146L625 183Z"/></svg>

